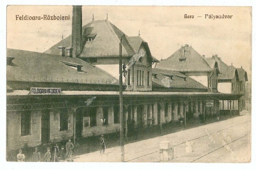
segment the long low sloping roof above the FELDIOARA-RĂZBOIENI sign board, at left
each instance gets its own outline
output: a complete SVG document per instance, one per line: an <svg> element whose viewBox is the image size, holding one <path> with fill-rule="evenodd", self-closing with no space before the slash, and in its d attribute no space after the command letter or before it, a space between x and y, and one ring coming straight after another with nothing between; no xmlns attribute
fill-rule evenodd
<svg viewBox="0 0 256 170"><path fill-rule="evenodd" d="M58 78L57 80L61 81L63 78L64 80L69 79L71 82L73 79L108 81L109 83L117 81L107 72L79 58L61 57L14 49L7 49L7 57L14 57L15 59L12 62L16 65L7 65L7 79L8 77L13 79L23 77L26 80L27 77L35 77L35 79L47 77L49 80L52 77L54 80ZM75 63L75 65L81 66L82 70L75 70L66 63Z"/></svg>

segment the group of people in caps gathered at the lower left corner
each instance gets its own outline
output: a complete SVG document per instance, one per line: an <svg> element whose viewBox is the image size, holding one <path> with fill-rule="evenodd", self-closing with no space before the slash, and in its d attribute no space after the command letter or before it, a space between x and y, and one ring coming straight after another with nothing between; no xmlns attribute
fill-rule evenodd
<svg viewBox="0 0 256 170"><path fill-rule="evenodd" d="M44 161L45 162L73 162L74 156L73 156L73 149L74 144L71 142L71 139L68 139L68 142L66 143L66 151L64 150L64 146L61 146L61 149L59 150L59 147L54 147L54 153L51 153L50 147L47 147L47 151L44 155ZM52 156L53 155L53 156ZM22 153L22 149L19 149L19 153L17 154L18 162L24 162L25 160L25 154ZM32 155L32 162L41 162L41 154L38 152L38 147L35 147L35 152L33 152Z"/></svg>

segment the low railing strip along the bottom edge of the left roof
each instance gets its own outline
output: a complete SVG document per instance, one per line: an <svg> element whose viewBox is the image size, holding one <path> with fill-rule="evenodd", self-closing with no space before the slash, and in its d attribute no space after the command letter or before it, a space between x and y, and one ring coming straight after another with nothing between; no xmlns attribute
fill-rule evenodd
<svg viewBox="0 0 256 170"><path fill-rule="evenodd" d="M119 85L119 81L113 80L91 80L91 79L76 79L76 78L63 78L63 77L36 77L36 76L7 76L7 81L36 81L36 82L71 82L83 84L112 84Z"/></svg>

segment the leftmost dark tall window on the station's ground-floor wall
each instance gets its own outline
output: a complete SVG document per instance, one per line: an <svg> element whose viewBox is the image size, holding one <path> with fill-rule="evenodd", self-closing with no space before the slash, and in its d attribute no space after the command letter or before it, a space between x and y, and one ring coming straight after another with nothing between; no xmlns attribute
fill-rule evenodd
<svg viewBox="0 0 256 170"><path fill-rule="evenodd" d="M20 113L20 135L30 135L31 131L31 112L26 111Z"/></svg>

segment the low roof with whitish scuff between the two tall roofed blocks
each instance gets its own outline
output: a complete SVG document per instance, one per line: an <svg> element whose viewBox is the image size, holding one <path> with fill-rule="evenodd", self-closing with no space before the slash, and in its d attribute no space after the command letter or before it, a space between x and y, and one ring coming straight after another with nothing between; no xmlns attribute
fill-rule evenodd
<svg viewBox="0 0 256 170"><path fill-rule="evenodd" d="M152 74L157 74L157 78L152 76L152 82L166 88L207 89L206 86L179 72L164 69L152 69Z"/></svg>

